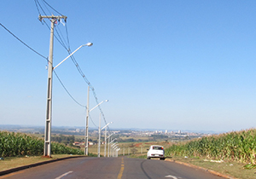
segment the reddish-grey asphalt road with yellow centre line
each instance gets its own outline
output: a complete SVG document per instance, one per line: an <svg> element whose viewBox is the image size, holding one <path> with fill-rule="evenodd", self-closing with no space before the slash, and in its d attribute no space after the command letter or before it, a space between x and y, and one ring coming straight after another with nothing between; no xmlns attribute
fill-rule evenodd
<svg viewBox="0 0 256 179"><path fill-rule="evenodd" d="M2 178L26 179L221 179L204 170L189 168L174 162L156 159L76 158L65 159L10 173Z"/></svg>

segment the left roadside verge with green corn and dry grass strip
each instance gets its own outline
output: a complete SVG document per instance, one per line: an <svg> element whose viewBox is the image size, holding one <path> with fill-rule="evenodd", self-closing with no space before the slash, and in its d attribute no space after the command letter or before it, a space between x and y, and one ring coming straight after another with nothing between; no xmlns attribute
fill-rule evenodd
<svg viewBox="0 0 256 179"><path fill-rule="evenodd" d="M49 158L43 158L44 139L36 136L0 131L0 171L31 165ZM58 142L51 143L51 159L82 155L84 152L76 147L67 147ZM89 153L90 156L96 156Z"/></svg>

